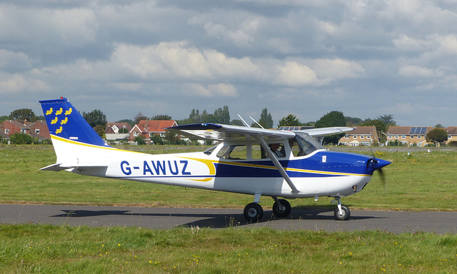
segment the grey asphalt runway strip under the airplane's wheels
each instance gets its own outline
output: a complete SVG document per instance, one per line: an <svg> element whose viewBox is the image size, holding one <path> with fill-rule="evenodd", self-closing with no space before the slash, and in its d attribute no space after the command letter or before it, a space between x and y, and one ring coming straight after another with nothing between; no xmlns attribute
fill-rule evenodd
<svg viewBox="0 0 457 274"><path fill-rule="evenodd" d="M0 205L0 223L54 225L134 226L151 229L273 228L278 230L383 230L391 233L456 233L456 212L400 212L351 210L350 220L338 221L333 210L296 210L288 218L274 218L265 210L263 220L248 223L242 209L136 208L69 205Z"/></svg>

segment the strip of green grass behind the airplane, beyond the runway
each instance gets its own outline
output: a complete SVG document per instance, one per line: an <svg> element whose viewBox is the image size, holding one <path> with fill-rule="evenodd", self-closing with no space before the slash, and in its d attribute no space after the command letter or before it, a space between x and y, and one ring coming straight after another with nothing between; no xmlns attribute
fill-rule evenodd
<svg viewBox="0 0 457 274"><path fill-rule="evenodd" d="M202 151L200 146L132 146L146 153ZM353 150L352 150L353 151ZM356 150L357 151L357 150ZM342 201L352 209L456 210L457 151L378 148L376 156L392 161L383 168L387 186L375 173L368 186ZM0 203L71 205L138 205L199 208L243 208L252 196L151 183L79 176L60 171L39 171L55 163L52 146L0 147ZM262 197L264 206L273 200ZM293 208L326 207L331 198L291 200Z"/></svg>

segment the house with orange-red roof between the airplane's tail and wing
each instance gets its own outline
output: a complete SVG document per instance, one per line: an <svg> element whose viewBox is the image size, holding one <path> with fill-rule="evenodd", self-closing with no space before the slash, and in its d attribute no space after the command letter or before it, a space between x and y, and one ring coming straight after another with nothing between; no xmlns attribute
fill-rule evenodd
<svg viewBox="0 0 457 274"><path fill-rule="evenodd" d="M134 142L138 136L144 136L147 144L151 143L151 137L159 135L165 137L165 129L171 126L178 126L174 120L141 120L130 131L129 141Z"/></svg>

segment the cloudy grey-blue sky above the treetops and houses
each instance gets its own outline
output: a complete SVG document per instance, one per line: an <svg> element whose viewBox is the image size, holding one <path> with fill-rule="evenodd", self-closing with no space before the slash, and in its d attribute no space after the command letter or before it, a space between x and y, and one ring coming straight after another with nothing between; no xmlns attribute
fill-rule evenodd
<svg viewBox="0 0 457 274"><path fill-rule="evenodd" d="M454 0L0 0L0 116L64 96L110 122L229 106L457 126L456 22Z"/></svg>

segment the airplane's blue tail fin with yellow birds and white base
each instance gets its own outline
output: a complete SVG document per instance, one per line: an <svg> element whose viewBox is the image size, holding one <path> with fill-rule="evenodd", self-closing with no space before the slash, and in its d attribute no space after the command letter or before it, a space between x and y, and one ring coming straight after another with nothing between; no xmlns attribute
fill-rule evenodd
<svg viewBox="0 0 457 274"><path fill-rule="evenodd" d="M57 163L80 163L94 157L94 148L111 148L66 98L39 101ZM97 153L100 154L100 153Z"/></svg>

